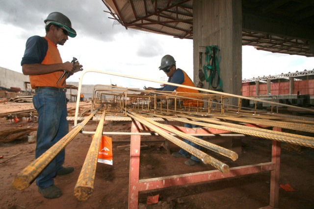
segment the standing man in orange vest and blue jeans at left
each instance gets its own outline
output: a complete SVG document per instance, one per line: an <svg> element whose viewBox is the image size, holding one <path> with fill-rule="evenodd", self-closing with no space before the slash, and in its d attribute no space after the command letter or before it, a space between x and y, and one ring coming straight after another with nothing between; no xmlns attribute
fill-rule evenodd
<svg viewBox="0 0 314 209"><path fill-rule="evenodd" d="M32 36L27 40L21 62L23 74L29 75L31 88L35 89L33 104L38 112L36 159L69 132L66 83L57 84L57 81L63 71L72 75L82 70L79 63L62 63L57 49L57 45L64 45L69 36L74 38L77 35L69 18L62 13L52 12L44 23L46 36ZM74 167L62 166L64 156L63 150L36 179L38 191L45 198L61 196L62 192L54 185L53 178L74 171Z"/></svg>

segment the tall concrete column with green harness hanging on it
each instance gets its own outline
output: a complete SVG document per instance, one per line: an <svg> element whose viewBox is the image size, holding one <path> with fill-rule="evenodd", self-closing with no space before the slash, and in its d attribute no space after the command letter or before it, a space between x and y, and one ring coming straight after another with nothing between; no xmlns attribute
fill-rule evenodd
<svg viewBox="0 0 314 209"><path fill-rule="evenodd" d="M199 81L199 52L205 52L205 48L202 46L211 45L217 45L220 49L219 67L223 91L241 95L241 0L193 1L193 82L196 84ZM237 101L235 103L237 104Z"/></svg>

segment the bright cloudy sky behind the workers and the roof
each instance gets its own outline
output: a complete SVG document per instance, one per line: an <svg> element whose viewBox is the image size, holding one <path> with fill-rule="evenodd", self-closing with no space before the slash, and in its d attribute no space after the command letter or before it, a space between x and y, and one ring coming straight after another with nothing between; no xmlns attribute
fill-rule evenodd
<svg viewBox="0 0 314 209"><path fill-rule="evenodd" d="M76 57L84 70L102 70L160 80L161 58L172 55L177 67L193 77L193 41L126 29L105 11L102 0L0 0L0 67L22 72L26 40L45 36L44 20L61 12L72 22L77 37L58 46L63 62ZM223 60L223 58L222 58ZM313 70L314 57L287 55L242 46L242 79ZM78 82L81 72L67 81ZM83 84L117 84L128 88L158 83L100 73L86 73Z"/></svg>

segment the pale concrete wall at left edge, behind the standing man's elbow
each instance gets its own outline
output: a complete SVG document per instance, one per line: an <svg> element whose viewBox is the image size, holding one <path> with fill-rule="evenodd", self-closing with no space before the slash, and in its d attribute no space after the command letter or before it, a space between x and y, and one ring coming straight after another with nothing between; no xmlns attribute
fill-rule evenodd
<svg viewBox="0 0 314 209"><path fill-rule="evenodd" d="M11 87L19 87L25 91L24 82L29 82L29 76L21 72L5 69L0 67L0 86L10 89ZM28 89L29 91L29 89Z"/></svg>

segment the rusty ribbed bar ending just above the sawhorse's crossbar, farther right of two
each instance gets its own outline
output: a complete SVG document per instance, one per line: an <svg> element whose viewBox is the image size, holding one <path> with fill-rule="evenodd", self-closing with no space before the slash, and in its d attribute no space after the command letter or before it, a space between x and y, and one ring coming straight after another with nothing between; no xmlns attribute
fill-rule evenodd
<svg viewBox="0 0 314 209"><path fill-rule="evenodd" d="M148 122L150 122L150 123L152 123L154 125L157 125L160 128L162 128L164 130L167 130L167 131L169 131L169 132L171 132L171 133L173 133L173 134L175 134L175 135L177 135L179 137L182 137L183 139L187 139L189 141L192 141L192 142L194 142L194 143L196 143L196 144L198 144L200 146L203 146L203 147L205 147L205 148L207 148L207 149L209 149L209 150L211 150L213 152L216 152L216 153L218 153L220 155L223 155L223 156L225 156L227 158L230 158L233 161L235 161L238 158L238 155L234 151L231 151L231 150L226 149L224 147L221 147L221 146L218 146L216 144L210 143L208 141L205 141L205 140L202 140L202 139L198 139L198 138L193 137L193 136L191 136L189 134L185 134L185 133L183 133L181 131L178 131L178 130L175 130L173 128L170 128L169 126L166 126L164 124L157 123L157 122L155 122L153 120L150 120L148 118L140 116L140 115L138 115L136 113L131 113L131 111L129 111L129 113L132 114L133 116L140 117L140 118L142 118L142 119L144 119L144 120L146 120L146 121L148 121Z"/></svg>

